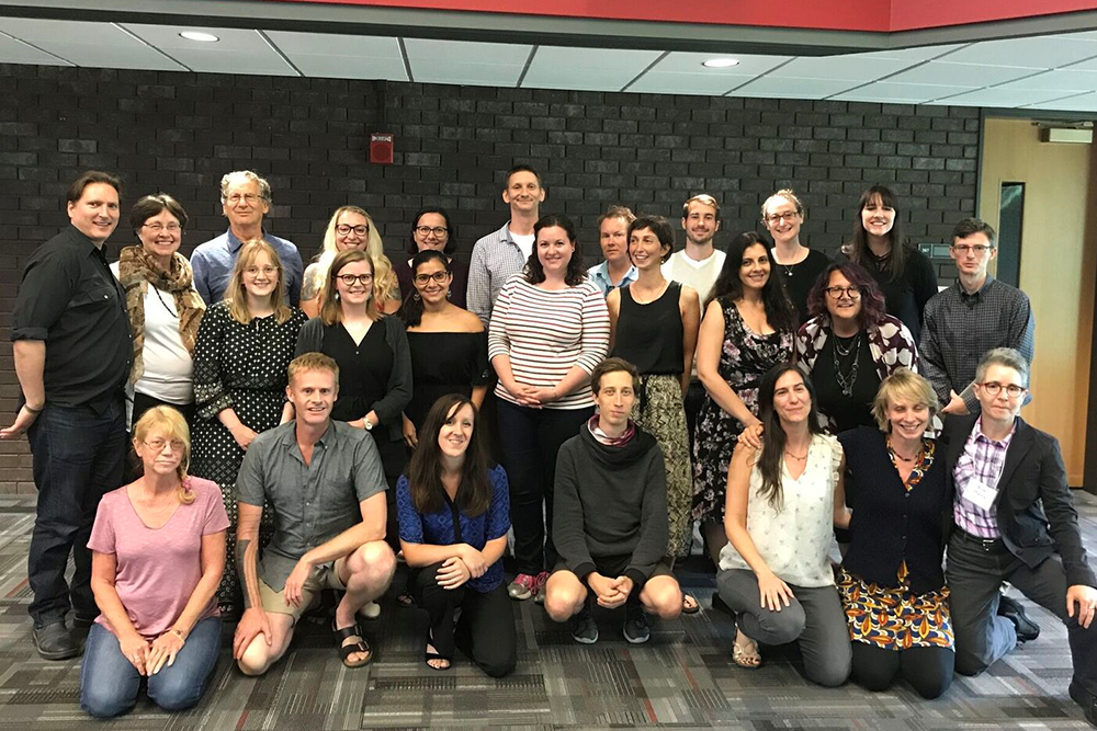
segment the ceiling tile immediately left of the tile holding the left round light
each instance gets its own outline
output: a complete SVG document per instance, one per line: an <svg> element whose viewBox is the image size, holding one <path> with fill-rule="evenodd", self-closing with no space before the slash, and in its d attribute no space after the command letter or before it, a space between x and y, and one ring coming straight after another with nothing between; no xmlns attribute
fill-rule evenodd
<svg viewBox="0 0 1097 731"><path fill-rule="evenodd" d="M3 31L77 66L183 70L179 64L111 23L4 18Z"/></svg>

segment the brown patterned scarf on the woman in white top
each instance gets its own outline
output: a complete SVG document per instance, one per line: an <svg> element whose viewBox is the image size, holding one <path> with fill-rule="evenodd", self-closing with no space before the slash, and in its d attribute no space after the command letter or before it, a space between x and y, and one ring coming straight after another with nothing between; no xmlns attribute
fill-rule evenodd
<svg viewBox="0 0 1097 731"><path fill-rule="evenodd" d="M194 353L194 339L199 322L205 312L205 302L194 288L194 273L191 265L178 251L171 255L171 264L165 272L159 262L145 247L125 247L118 258L118 281L126 292L126 310L134 332L134 367L129 372L129 382L136 384L145 373L145 295L148 285L159 292L171 293L179 312L179 335L189 353Z"/></svg>

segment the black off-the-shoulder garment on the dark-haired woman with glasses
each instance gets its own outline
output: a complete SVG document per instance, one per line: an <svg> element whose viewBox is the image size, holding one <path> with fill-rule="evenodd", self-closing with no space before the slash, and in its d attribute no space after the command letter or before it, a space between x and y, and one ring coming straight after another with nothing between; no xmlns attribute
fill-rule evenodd
<svg viewBox="0 0 1097 731"><path fill-rule="evenodd" d="M446 393L472 396L474 386L486 386L489 381L486 331L409 331L408 349L415 390L404 413L417 432L440 397Z"/></svg>

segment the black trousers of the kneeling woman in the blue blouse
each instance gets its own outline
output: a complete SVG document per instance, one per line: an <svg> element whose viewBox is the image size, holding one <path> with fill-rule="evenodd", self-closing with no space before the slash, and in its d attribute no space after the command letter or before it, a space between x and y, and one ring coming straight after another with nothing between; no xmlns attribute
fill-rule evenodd
<svg viewBox="0 0 1097 731"><path fill-rule="evenodd" d="M502 584L484 594L464 584L443 589L434 576L442 563L411 570L411 595L427 610L430 643L438 654L453 658L457 647L491 677L502 677L518 663L513 602ZM454 626L454 609L461 619Z"/></svg>

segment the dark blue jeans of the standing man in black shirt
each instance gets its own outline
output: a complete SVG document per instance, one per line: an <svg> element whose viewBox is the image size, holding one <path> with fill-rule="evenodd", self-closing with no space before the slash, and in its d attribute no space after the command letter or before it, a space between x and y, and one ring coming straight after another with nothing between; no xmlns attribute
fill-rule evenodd
<svg viewBox="0 0 1097 731"><path fill-rule="evenodd" d="M118 397L105 411L46 408L27 431L38 509L26 560L34 626L64 621L69 608L82 619L99 616L91 593L88 540L99 500L121 487L126 454L126 407ZM72 553L76 572L65 582Z"/></svg>

